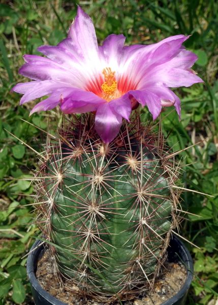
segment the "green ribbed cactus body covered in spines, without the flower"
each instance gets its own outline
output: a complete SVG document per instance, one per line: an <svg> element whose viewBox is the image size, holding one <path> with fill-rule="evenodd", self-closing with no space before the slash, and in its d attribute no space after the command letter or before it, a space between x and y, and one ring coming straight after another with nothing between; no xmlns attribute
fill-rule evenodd
<svg viewBox="0 0 218 305"><path fill-rule="evenodd" d="M163 137L136 115L105 144L94 115L47 141L37 176L39 224L59 272L104 300L152 286L176 225L177 179Z"/></svg>

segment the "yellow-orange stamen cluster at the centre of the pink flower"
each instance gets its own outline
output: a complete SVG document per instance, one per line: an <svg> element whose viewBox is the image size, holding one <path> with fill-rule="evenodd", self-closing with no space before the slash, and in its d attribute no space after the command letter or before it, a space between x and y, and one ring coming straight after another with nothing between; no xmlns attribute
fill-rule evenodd
<svg viewBox="0 0 218 305"><path fill-rule="evenodd" d="M104 75L104 83L102 84L101 88L103 90L103 98L110 102L114 99L115 95L117 95L117 81L115 80L115 71L112 71L111 68L105 68L102 71Z"/></svg>

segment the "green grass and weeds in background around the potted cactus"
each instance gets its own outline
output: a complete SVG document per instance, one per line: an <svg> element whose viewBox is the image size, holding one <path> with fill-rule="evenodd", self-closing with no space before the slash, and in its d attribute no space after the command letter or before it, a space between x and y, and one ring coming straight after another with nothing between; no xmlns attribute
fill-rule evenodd
<svg viewBox="0 0 218 305"><path fill-rule="evenodd" d="M181 121L172 109L162 113L168 144L182 150L184 188L214 198L183 192L182 206L199 215L187 215L182 235L195 261L195 278L187 304L208 304L218 298L218 81L217 2L181 1L80 1L96 26L99 43L111 34L123 33L127 44L153 43L176 34L192 35L185 46L199 59L194 67L204 84L181 88ZM0 304L31 304L25 275L25 254L37 234L32 224L33 187L25 179L37 165L36 155L17 138L38 149L43 141L48 114L28 117L33 104L19 107L19 95L10 92L24 78L18 75L25 53L38 54L37 47L57 44L66 37L76 15L76 2L45 0L0 0ZM144 119L148 117L145 110ZM51 112L51 117L55 116ZM13 137L10 133L17 138Z"/></svg>

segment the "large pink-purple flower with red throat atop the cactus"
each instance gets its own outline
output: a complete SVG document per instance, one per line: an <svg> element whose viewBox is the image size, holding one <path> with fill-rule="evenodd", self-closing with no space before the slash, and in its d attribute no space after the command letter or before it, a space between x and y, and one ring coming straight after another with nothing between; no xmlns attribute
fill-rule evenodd
<svg viewBox="0 0 218 305"><path fill-rule="evenodd" d="M197 56L182 46L188 38L176 35L151 45L124 46L125 37L112 34L98 46L90 17L78 7L68 37L57 46L38 48L46 57L24 55L19 73L33 81L13 90L23 94L20 104L49 96L30 114L57 105L64 113L94 111L97 133L110 142L138 103L148 107L153 119L162 106L174 105L180 115L179 98L169 87L202 82L191 70Z"/></svg>

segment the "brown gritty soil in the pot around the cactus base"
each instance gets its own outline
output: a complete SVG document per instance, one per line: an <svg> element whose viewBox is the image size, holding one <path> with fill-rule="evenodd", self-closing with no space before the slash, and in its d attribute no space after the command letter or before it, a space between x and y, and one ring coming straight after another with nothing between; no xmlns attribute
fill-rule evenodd
<svg viewBox="0 0 218 305"><path fill-rule="evenodd" d="M138 299L123 301L123 305L161 305L175 295L183 286L186 279L186 270L181 263L165 262L165 271L154 283L154 291L146 293ZM78 288L72 281L64 279L60 283L54 276L53 263L48 251L38 262L36 277L41 286L55 298L68 305L103 305L96 301L89 301L78 296ZM69 288L68 288L69 287ZM114 305L118 305L114 303Z"/></svg>

